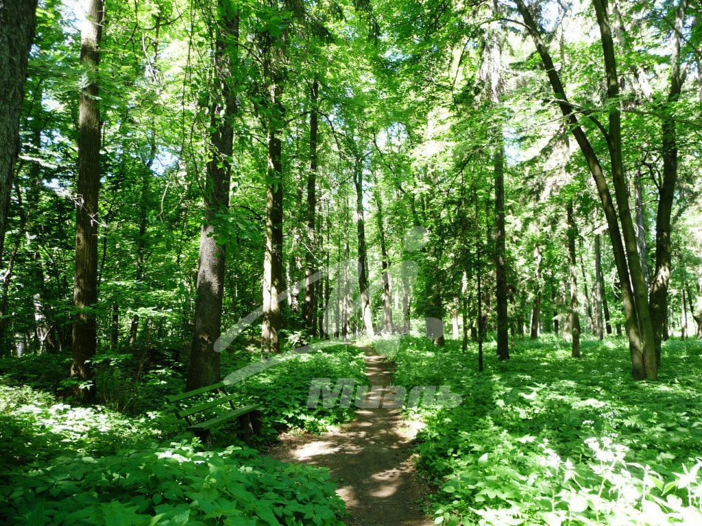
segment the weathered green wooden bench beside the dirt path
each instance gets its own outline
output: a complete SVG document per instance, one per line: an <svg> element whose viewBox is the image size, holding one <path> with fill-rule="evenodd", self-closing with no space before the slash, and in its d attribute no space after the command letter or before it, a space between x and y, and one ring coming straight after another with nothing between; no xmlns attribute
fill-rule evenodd
<svg viewBox="0 0 702 526"><path fill-rule="evenodd" d="M199 398L211 398L211 400L192 405L192 403L196 402ZM193 431L206 445L211 446L210 430L215 426L224 424L233 419L237 419L239 427L244 430L245 439L248 439L251 433L257 435L260 433L260 415L263 406L255 403L244 405L244 407L236 407L234 405L234 400L236 400L236 398L237 395L227 393L224 383L219 382L218 384L204 386L200 389L187 391L186 393L168 396L166 400L168 400L168 403L176 406L178 418L185 419L188 425L187 431ZM199 413L214 410L219 406L229 407L227 407L227 411L223 414L217 414L214 417L199 422L199 418L197 417Z"/></svg>

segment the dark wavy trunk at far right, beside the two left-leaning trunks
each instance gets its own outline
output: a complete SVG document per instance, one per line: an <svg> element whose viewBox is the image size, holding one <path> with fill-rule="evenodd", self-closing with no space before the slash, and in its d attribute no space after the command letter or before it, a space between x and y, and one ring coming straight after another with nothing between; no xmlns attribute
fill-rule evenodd
<svg viewBox="0 0 702 526"><path fill-rule="evenodd" d="M668 284L670 283L670 215L673 212L673 197L677 182L677 137L673 117L673 105L682 90L680 71L680 39L682 37L687 0L681 0L675 9L675 30L672 36L670 56L670 86L668 100L662 104L661 149L663 154L663 182L658 188L658 211L656 213L656 271L651 281L649 300L655 339L656 363L661 363L661 340L668 338Z"/></svg>

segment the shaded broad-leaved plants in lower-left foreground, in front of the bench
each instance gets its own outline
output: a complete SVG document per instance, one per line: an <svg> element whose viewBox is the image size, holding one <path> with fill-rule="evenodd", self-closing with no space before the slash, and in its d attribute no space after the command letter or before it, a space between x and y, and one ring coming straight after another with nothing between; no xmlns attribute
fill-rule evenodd
<svg viewBox="0 0 702 526"><path fill-rule="evenodd" d="M0 487L8 525L340 526L326 470L197 443L55 459Z"/></svg>

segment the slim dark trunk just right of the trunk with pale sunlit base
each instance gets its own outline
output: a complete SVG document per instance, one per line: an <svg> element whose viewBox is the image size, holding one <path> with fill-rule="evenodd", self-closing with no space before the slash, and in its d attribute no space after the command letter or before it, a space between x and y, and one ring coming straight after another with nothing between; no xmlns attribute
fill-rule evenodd
<svg viewBox="0 0 702 526"><path fill-rule="evenodd" d="M314 257L316 249L315 218L317 209L317 133L319 130L319 115L317 114L317 98L319 96L319 81L315 78L310 89L310 171L307 174L307 251L305 252L305 304L303 317L305 327L312 331L312 336L317 335L317 283L312 283L312 275L316 271Z"/></svg>

